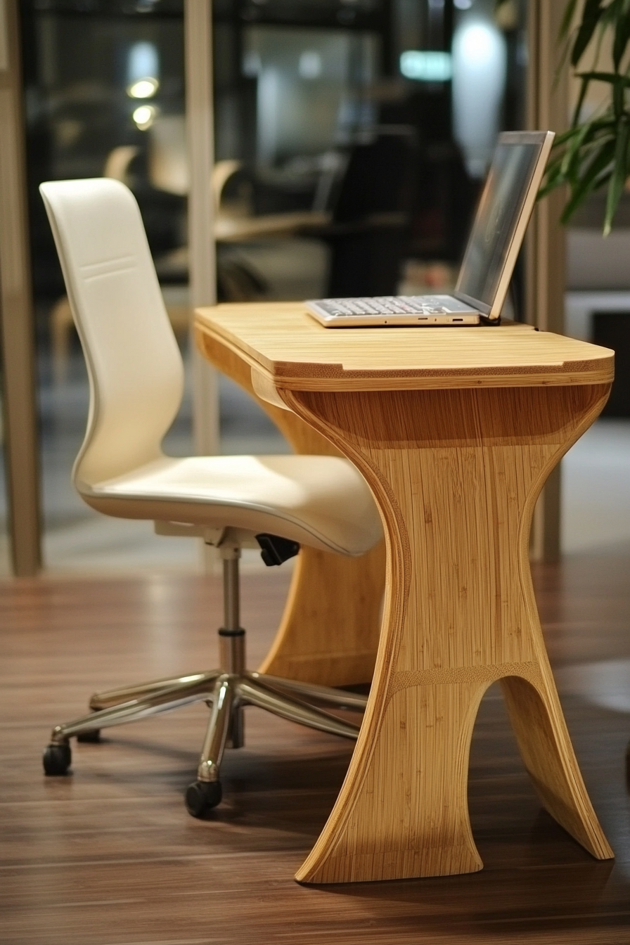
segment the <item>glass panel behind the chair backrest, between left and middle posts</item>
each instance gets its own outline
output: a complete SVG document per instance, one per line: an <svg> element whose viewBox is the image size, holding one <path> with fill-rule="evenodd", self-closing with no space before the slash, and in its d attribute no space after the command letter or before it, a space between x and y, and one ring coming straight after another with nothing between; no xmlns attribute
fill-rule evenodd
<svg viewBox="0 0 630 945"><path fill-rule="evenodd" d="M155 8L155 9L154 9ZM29 213L37 323L43 558L52 571L194 567L195 542L157 540L150 523L109 519L78 498L70 472L87 418L87 375L38 192L42 180L123 180L159 264L185 244L186 196L155 180L152 129L184 109L181 3L22 5ZM176 168L177 170L177 168ZM166 267L165 301L187 346L185 266ZM190 397L167 449L192 451Z"/></svg>

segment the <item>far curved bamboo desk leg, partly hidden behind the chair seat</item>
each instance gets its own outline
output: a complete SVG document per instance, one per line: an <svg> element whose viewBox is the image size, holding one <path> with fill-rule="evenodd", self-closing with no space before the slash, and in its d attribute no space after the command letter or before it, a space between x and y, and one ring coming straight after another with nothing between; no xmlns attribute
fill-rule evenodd
<svg viewBox="0 0 630 945"><path fill-rule="evenodd" d="M230 348L197 333L208 359L244 387L279 427L296 453L339 455L329 439L256 396L251 369ZM260 667L274 676L327 686L369 682L379 643L385 580L381 542L362 558L302 548L276 639Z"/></svg>

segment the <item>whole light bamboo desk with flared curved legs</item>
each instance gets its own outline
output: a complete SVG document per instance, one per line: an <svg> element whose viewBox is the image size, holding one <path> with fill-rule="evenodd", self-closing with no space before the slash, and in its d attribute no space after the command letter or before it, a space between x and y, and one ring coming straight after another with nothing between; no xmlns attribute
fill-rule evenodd
<svg viewBox="0 0 630 945"><path fill-rule="evenodd" d="M349 456L383 517L383 628L366 716L297 879L481 869L468 749L498 679L542 804L593 856L612 857L555 690L528 541L547 476L604 406L613 352L518 325L327 330L297 302L199 309L196 337L233 376L240 363L277 416L292 411ZM315 580L316 597L348 598L343 580L341 570L334 583ZM371 613L373 600L357 609ZM286 640L284 628L280 662Z"/></svg>

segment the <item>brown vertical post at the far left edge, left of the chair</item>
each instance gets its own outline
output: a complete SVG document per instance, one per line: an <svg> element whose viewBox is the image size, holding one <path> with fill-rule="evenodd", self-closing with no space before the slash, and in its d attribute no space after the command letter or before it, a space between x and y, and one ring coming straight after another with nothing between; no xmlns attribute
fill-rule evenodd
<svg viewBox="0 0 630 945"><path fill-rule="evenodd" d="M18 4L0 0L0 335L13 572L42 561Z"/></svg>

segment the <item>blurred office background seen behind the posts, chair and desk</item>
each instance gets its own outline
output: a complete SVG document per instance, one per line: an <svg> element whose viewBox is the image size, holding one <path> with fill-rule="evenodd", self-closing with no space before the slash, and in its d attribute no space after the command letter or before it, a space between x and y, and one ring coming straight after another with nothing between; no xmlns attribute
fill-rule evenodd
<svg viewBox="0 0 630 945"><path fill-rule="evenodd" d="M523 0L500 16L494 0L214 0L219 299L451 288L497 133L525 127L525 9ZM71 486L87 379L37 190L103 174L128 184L188 358L182 3L25 0L22 32L45 566L195 568L195 542L98 516ZM630 211L622 206L604 248L598 199L569 232L567 333L617 348L622 365ZM520 266L509 312L522 318ZM630 541L623 383L620 371L609 416L564 463L567 552ZM220 403L222 452L287 449L227 380ZM165 447L193 451L190 390ZM0 483L4 573L6 547Z"/></svg>

